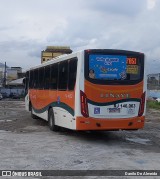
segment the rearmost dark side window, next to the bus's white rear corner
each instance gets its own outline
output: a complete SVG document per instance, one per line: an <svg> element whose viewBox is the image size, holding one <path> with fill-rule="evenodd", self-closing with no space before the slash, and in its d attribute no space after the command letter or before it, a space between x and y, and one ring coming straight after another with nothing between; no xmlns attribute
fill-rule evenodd
<svg viewBox="0 0 160 179"><path fill-rule="evenodd" d="M76 75L77 75L77 59L72 59L69 61L68 90L74 90Z"/></svg>

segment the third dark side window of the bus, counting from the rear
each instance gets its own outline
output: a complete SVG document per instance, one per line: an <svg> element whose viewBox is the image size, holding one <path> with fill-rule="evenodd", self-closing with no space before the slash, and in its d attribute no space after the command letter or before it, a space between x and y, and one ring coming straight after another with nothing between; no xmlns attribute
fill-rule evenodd
<svg viewBox="0 0 160 179"><path fill-rule="evenodd" d="M51 78L50 78L50 89L57 90L57 80L58 79L58 64L53 64L51 66Z"/></svg>

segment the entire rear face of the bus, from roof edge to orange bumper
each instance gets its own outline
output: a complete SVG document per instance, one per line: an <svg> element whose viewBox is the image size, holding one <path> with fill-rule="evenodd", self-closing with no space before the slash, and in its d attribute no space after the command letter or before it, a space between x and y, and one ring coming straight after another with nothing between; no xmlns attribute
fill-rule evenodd
<svg viewBox="0 0 160 179"><path fill-rule="evenodd" d="M146 105L144 54L124 50L85 50L81 65L84 75L80 74L81 85L77 89L78 114L81 115L76 116L76 129L143 128Z"/></svg>

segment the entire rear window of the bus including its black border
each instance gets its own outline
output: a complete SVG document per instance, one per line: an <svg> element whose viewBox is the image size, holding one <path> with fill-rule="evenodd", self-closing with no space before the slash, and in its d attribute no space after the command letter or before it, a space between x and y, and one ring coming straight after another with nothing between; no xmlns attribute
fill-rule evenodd
<svg viewBox="0 0 160 179"><path fill-rule="evenodd" d="M86 78L94 83L137 83L143 79L143 58L133 54L98 54L86 56Z"/></svg>

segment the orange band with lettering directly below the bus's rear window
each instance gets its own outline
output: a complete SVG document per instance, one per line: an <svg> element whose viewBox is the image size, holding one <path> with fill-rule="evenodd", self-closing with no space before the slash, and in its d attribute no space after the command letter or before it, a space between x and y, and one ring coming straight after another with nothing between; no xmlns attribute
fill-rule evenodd
<svg viewBox="0 0 160 179"><path fill-rule="evenodd" d="M141 98L143 93L143 81L135 85L97 85L85 81L84 92L88 99L95 102L113 102L121 99L129 98ZM119 97L111 97L108 94L119 95ZM106 95L108 95L106 97ZM103 96L103 97L101 97ZM124 96L124 98L122 97ZM126 97L127 98L127 97Z"/></svg>

